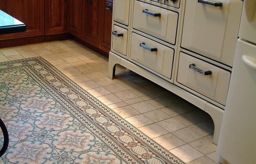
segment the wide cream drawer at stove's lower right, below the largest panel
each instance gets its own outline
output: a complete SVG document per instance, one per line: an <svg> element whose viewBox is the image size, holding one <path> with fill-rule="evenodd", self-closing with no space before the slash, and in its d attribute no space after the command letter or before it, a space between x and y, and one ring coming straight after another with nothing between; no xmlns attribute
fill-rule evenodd
<svg viewBox="0 0 256 164"><path fill-rule="evenodd" d="M222 105L226 104L230 76L229 71L180 53L177 81Z"/></svg>

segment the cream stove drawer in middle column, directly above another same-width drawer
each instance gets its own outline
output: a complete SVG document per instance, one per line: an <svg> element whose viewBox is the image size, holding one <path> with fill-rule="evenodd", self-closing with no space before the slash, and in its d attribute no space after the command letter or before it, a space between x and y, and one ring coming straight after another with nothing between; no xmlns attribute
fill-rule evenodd
<svg viewBox="0 0 256 164"><path fill-rule="evenodd" d="M135 1L132 27L168 43L175 44L178 13Z"/></svg>

